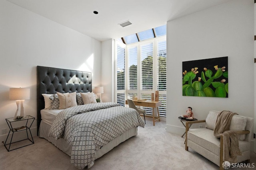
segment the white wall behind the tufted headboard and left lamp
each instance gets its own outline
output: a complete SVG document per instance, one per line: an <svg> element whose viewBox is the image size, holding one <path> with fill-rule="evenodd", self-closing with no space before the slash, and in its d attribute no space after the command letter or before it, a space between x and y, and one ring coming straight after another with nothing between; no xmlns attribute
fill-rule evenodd
<svg viewBox="0 0 256 170"><path fill-rule="evenodd" d="M0 142L5 118L16 103L9 88L30 88L27 115L36 117L36 66L92 72L93 86L101 84L101 42L64 27L5 0L0 1ZM36 134L36 120L33 125Z"/></svg>

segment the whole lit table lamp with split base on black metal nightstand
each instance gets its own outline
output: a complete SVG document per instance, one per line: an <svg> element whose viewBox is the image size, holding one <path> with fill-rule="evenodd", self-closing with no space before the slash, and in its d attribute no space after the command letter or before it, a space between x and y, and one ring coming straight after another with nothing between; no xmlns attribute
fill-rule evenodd
<svg viewBox="0 0 256 170"><path fill-rule="evenodd" d="M24 100L30 99L30 89L29 88L10 88L9 99L16 100L17 110L15 112L14 119L17 118L19 105L20 105L20 116L26 117L23 102Z"/></svg>

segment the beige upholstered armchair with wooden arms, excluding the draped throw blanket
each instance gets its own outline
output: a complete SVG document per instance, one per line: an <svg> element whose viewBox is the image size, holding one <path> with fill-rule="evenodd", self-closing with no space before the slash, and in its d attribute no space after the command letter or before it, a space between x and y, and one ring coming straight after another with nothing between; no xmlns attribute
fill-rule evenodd
<svg viewBox="0 0 256 170"><path fill-rule="evenodd" d="M214 164L222 167L223 161L223 135L220 139L214 137L213 130L219 111L209 111L206 120L186 122L185 149L188 148L198 152ZM205 122L206 128L189 129L191 123ZM239 135L239 149L242 156L237 156L238 162L250 161L250 141L253 130L253 118L241 115L233 115L230 124L230 131L236 131Z"/></svg>

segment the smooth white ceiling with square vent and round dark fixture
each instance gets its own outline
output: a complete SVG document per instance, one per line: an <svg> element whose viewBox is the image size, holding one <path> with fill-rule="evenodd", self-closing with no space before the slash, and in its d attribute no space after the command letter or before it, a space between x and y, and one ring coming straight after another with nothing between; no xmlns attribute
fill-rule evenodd
<svg viewBox="0 0 256 170"><path fill-rule="evenodd" d="M230 0L7 0L99 41L165 25ZM98 14L94 14L98 11ZM118 23L130 20L132 25Z"/></svg>

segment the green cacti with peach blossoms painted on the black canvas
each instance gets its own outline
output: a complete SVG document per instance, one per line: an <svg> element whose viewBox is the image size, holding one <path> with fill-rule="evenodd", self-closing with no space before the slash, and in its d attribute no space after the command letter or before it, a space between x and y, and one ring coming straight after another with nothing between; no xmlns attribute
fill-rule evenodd
<svg viewBox="0 0 256 170"><path fill-rule="evenodd" d="M192 82L196 78L198 73L198 68L192 68L190 72L183 72L182 79L182 95L183 96L202 96L202 97L222 97L225 98L228 94L228 83L225 79L222 79L220 82L214 82L214 79L228 78L228 72L225 72L225 66L218 68L218 65L214 66L216 72L213 74L212 70L204 68L204 71L201 72L201 77L198 77L198 81ZM201 81L202 80L202 81ZM186 84L186 82L188 82ZM212 85L213 88L209 87Z"/></svg>

